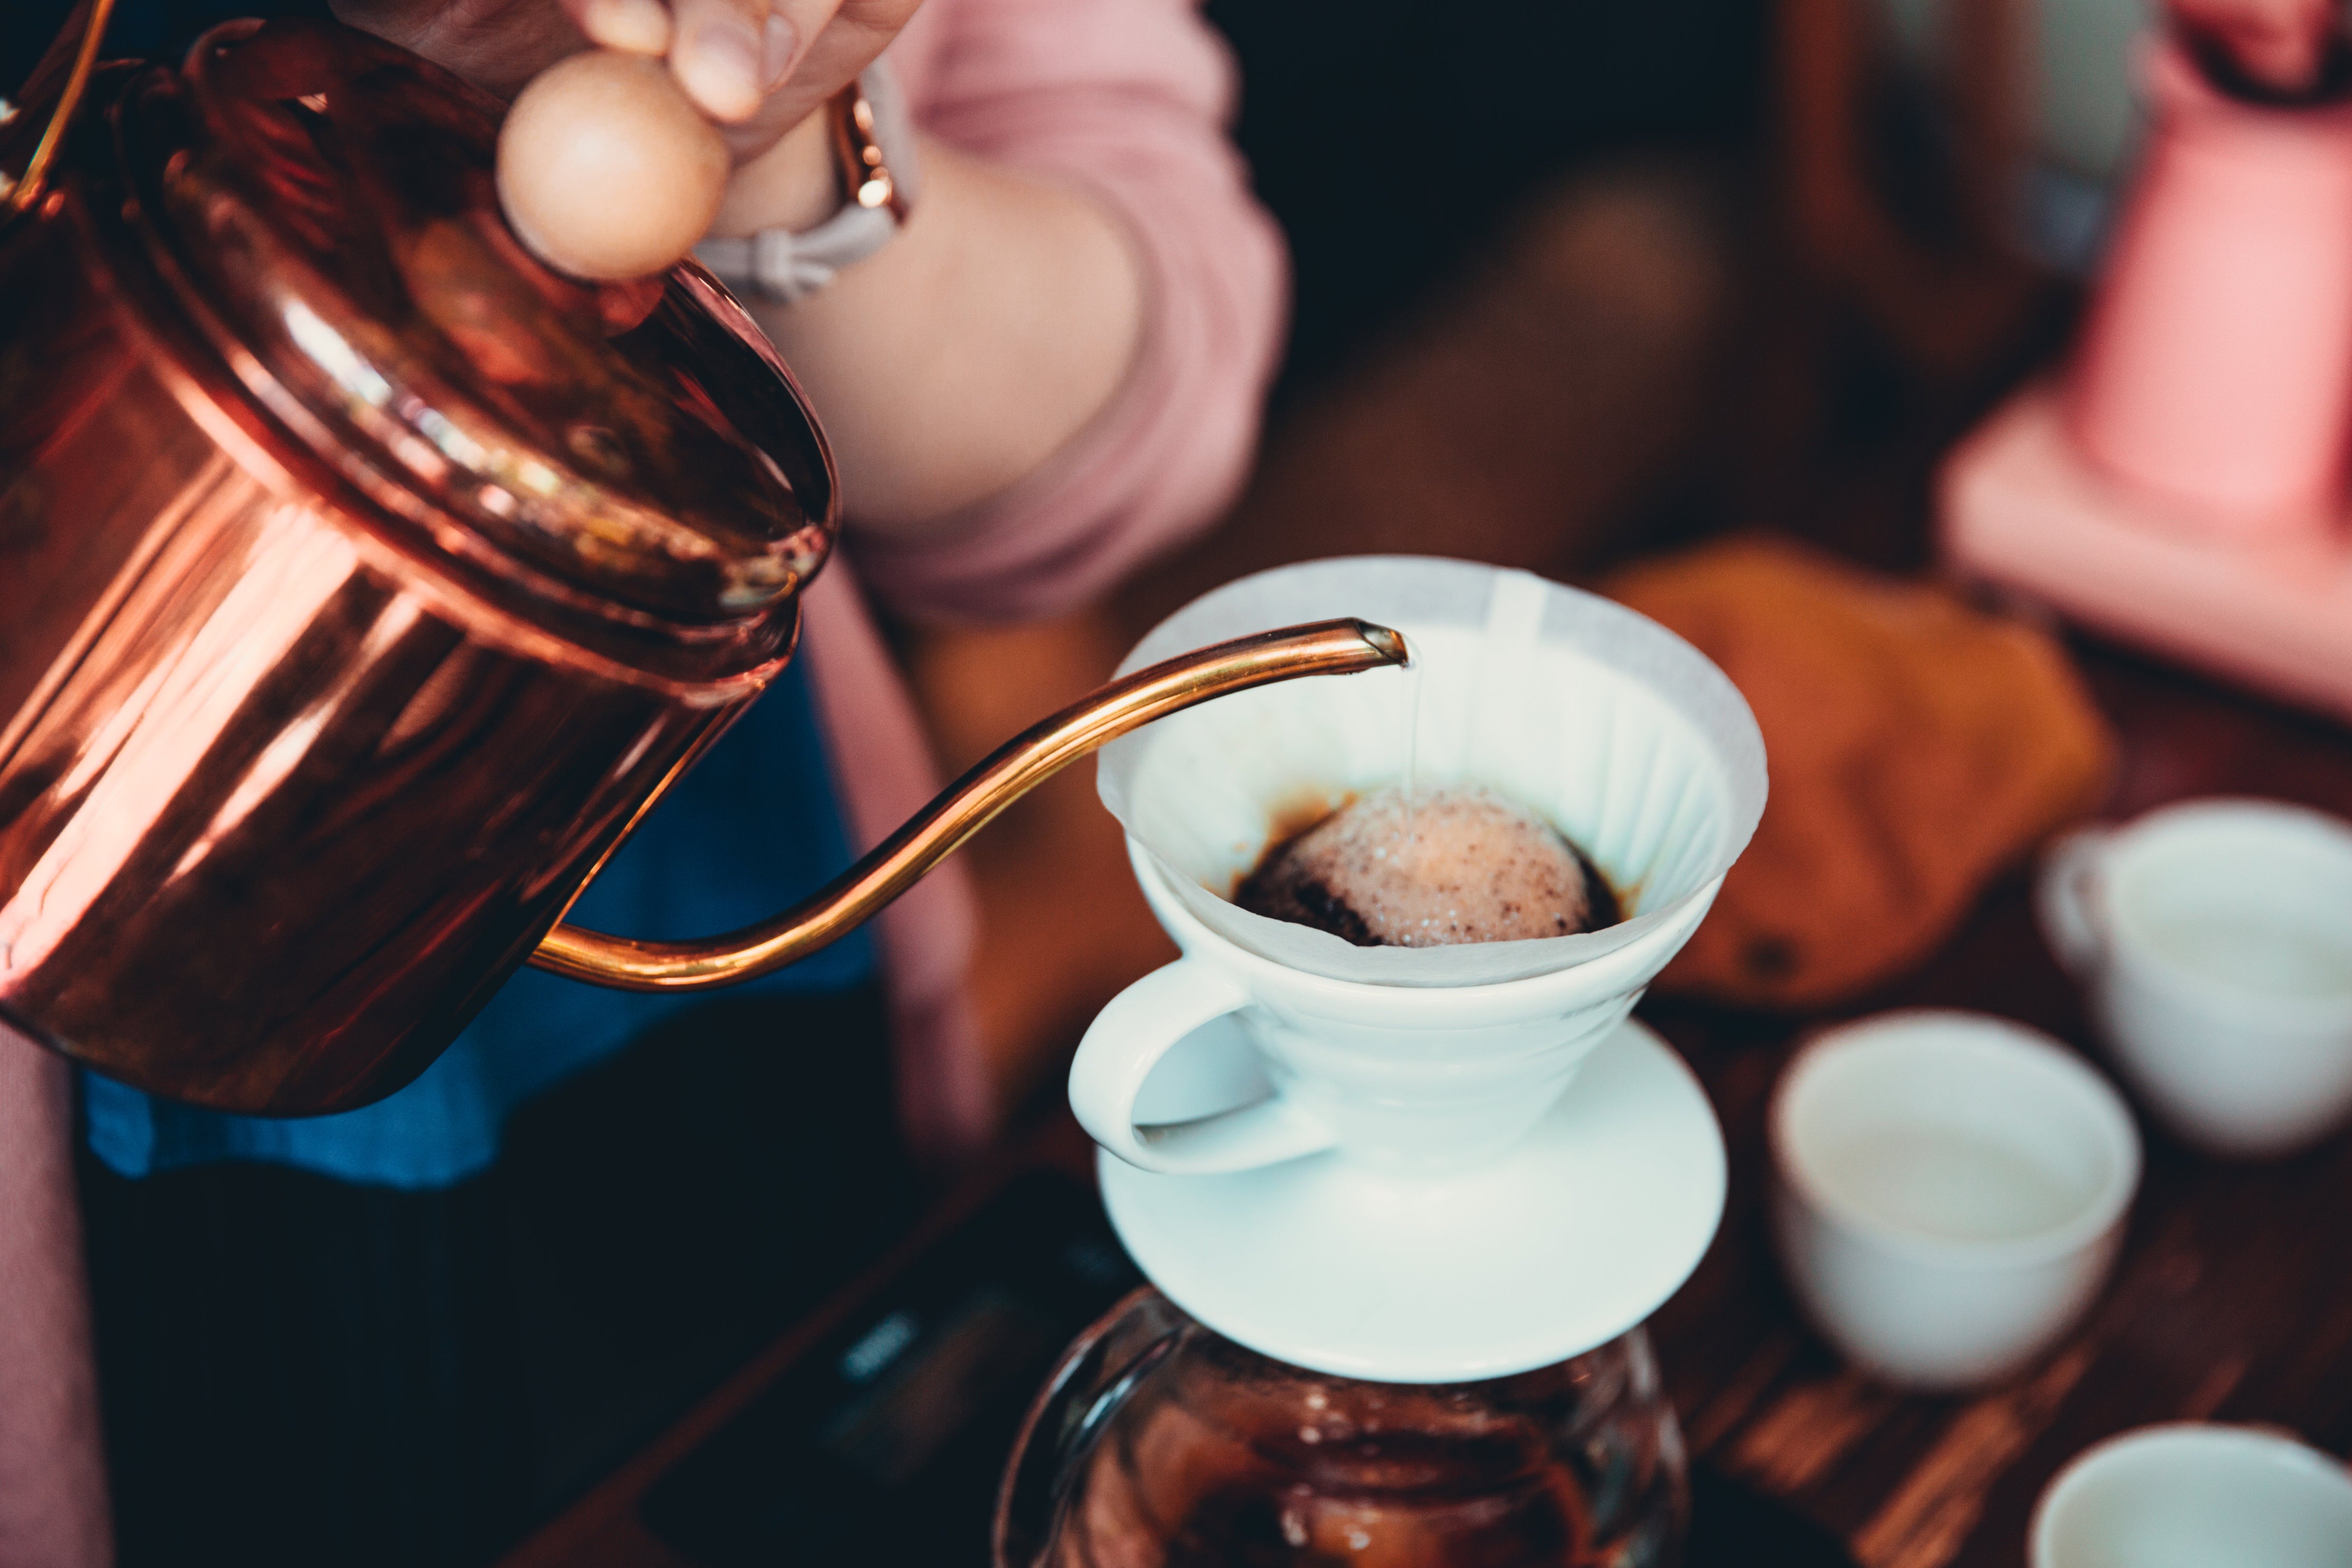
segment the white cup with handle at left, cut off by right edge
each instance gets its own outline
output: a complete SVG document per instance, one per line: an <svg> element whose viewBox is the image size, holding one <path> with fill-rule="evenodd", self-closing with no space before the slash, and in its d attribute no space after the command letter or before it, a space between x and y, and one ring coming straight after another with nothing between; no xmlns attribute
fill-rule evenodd
<svg viewBox="0 0 2352 1568"><path fill-rule="evenodd" d="M2039 907L2124 1079L2190 1143L2286 1154L2352 1110L2352 825L2164 806L2060 839Z"/></svg>

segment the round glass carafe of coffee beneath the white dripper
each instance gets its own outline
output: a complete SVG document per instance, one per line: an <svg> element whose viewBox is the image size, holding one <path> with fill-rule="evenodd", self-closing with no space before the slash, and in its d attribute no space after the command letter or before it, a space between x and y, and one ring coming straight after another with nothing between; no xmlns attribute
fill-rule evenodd
<svg viewBox="0 0 2352 1568"><path fill-rule="evenodd" d="M1663 1568L1682 1434L1639 1328L1486 1382L1261 1356L1152 1288L1047 1382L997 1500L997 1568Z"/></svg>

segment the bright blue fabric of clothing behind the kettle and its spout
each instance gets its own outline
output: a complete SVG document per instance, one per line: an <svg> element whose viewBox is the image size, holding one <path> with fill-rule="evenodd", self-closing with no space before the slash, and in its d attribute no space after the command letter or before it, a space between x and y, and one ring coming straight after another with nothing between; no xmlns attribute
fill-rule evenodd
<svg viewBox="0 0 2352 1568"><path fill-rule="evenodd" d="M807 679L788 665L647 813L572 917L602 931L710 936L774 914L849 858ZM847 990L873 973L873 938L854 931L729 994ZM89 1147L122 1175L263 1159L346 1182L447 1187L496 1159L515 1105L694 1001L524 969L414 1084L334 1117L230 1117L85 1072Z"/></svg>

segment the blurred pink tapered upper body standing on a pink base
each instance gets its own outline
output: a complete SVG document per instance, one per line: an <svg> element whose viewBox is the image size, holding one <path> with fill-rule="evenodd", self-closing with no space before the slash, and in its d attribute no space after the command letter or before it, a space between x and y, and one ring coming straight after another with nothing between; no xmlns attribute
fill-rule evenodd
<svg viewBox="0 0 2352 1568"><path fill-rule="evenodd" d="M2194 527L2321 534L2352 433L2352 103L2225 96L2173 38L2079 348L2084 454Z"/></svg>

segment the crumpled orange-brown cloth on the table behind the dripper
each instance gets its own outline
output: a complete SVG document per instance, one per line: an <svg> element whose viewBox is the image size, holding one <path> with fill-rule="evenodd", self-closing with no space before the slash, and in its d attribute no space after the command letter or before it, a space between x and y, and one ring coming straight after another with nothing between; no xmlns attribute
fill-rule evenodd
<svg viewBox="0 0 2352 1568"><path fill-rule="evenodd" d="M2049 635L1952 592L1736 538L1611 597L1691 639L1755 708L1764 823L1661 990L1818 1009L1950 936L2004 865L2107 790L2112 738Z"/></svg>

